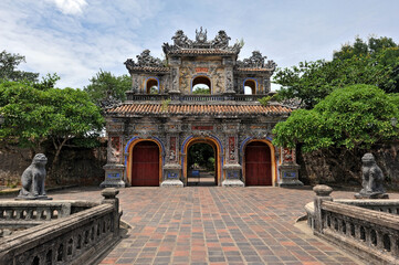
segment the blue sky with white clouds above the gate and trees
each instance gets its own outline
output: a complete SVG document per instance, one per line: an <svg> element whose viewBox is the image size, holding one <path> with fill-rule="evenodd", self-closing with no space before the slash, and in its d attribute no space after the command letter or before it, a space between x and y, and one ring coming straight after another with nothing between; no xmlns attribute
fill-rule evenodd
<svg viewBox="0 0 399 265"><path fill-rule="evenodd" d="M259 50L280 67L330 60L356 35L399 42L398 0L1 0L0 50L27 57L20 68L57 73L57 86L83 88L99 68L127 74L126 59L164 42L179 29L213 39L225 30L244 39L240 59ZM276 88L276 86L274 86Z"/></svg>

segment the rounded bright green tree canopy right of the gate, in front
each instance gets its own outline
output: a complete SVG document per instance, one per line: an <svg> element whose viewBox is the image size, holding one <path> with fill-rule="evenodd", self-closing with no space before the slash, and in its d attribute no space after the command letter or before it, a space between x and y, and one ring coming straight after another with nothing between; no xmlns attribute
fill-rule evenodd
<svg viewBox="0 0 399 265"><path fill-rule="evenodd" d="M399 136L391 119L399 118L398 94L376 86L353 85L335 89L314 109L294 110L273 132L274 145L304 151L330 147L369 149L374 144Z"/></svg>

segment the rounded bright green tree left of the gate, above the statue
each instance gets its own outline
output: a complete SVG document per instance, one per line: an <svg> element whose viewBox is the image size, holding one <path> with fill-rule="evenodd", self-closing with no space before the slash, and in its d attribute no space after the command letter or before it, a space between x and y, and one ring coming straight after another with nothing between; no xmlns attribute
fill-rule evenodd
<svg viewBox="0 0 399 265"><path fill-rule="evenodd" d="M63 147L76 138L97 136L104 126L101 110L87 93L73 88L38 89L31 83L1 83L0 114L4 117L0 141L18 142L32 152L50 141L55 150L52 167ZM91 140L76 142L80 146L93 144Z"/></svg>

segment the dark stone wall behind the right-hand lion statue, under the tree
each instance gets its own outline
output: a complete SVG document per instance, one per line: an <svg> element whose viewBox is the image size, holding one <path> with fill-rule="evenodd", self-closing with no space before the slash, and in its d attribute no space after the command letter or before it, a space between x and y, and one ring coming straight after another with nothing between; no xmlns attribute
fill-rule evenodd
<svg viewBox="0 0 399 265"><path fill-rule="evenodd" d="M399 190L399 141L380 145L369 150L386 177L387 187ZM329 183L361 187L361 157L367 152L333 149L303 153L300 148L297 163L300 179L305 184Z"/></svg>

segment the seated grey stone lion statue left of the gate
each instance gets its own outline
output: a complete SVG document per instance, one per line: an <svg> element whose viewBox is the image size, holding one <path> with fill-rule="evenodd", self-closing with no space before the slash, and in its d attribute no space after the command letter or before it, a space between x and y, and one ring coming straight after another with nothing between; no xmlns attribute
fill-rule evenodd
<svg viewBox="0 0 399 265"><path fill-rule="evenodd" d="M44 191L45 165L48 158L43 153L36 153L32 163L23 171L21 176L22 189L19 198L38 199L46 198Z"/></svg>

